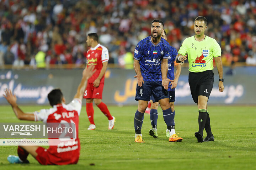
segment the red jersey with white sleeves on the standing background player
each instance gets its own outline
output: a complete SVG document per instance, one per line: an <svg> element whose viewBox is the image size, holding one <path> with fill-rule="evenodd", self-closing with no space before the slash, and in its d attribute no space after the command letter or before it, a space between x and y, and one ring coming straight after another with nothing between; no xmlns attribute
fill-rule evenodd
<svg viewBox="0 0 256 170"><path fill-rule="evenodd" d="M109 55L108 55L108 49L100 44L97 44L94 48L90 48L86 53L86 62L87 66L95 65L96 72L92 75L92 77L88 80L88 83L94 83L94 81L98 78L98 75L100 75L101 69L102 69L102 63L108 62ZM104 83L104 75L101 78L100 83Z"/></svg>

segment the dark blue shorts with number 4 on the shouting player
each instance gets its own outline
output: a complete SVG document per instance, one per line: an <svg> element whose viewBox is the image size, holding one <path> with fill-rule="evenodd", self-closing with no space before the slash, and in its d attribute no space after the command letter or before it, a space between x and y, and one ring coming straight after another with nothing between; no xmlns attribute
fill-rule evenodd
<svg viewBox="0 0 256 170"><path fill-rule="evenodd" d="M137 84L135 100L150 101L151 95L156 102L163 98L169 98L169 93L162 86L162 81L144 81L142 87Z"/></svg>

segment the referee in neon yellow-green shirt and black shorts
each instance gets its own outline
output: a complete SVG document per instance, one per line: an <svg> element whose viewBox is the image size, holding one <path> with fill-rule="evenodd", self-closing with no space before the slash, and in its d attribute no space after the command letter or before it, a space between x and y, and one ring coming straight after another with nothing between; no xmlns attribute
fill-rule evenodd
<svg viewBox="0 0 256 170"><path fill-rule="evenodd" d="M217 41L204 34L207 19L198 16L194 20L195 35L186 38L178 51L176 62L189 62L188 83L192 98L198 107L199 130L195 132L198 142L214 141L210 128L210 117L207 110L207 101L213 88L213 58L219 73L219 91L223 92L223 68L221 61L221 49ZM186 55L187 54L187 55ZM186 55L186 56L185 56ZM207 136L203 139L203 130Z"/></svg>

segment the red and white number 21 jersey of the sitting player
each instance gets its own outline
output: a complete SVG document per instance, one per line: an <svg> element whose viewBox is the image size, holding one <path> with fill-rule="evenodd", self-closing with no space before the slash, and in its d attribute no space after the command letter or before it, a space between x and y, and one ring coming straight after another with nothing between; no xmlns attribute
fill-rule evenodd
<svg viewBox="0 0 256 170"><path fill-rule="evenodd" d="M80 141L78 138L79 115L82 102L74 98L69 104L57 104L50 109L41 109L34 112L35 121L44 123L75 123L76 139L73 146L50 146L48 152L51 155L51 162L54 164L72 164L77 162L80 155Z"/></svg>

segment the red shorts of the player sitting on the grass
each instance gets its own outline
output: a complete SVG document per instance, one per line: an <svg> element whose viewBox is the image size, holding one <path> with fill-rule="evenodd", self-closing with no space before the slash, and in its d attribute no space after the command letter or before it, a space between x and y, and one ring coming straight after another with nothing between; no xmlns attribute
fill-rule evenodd
<svg viewBox="0 0 256 170"><path fill-rule="evenodd" d="M74 154L70 159L63 158L63 153L52 154L48 149L43 147L38 147L36 150L37 157L36 160L41 165L68 165L68 164L77 164L79 159L79 153ZM67 153L70 154L70 153ZM78 157L77 157L78 156Z"/></svg>

